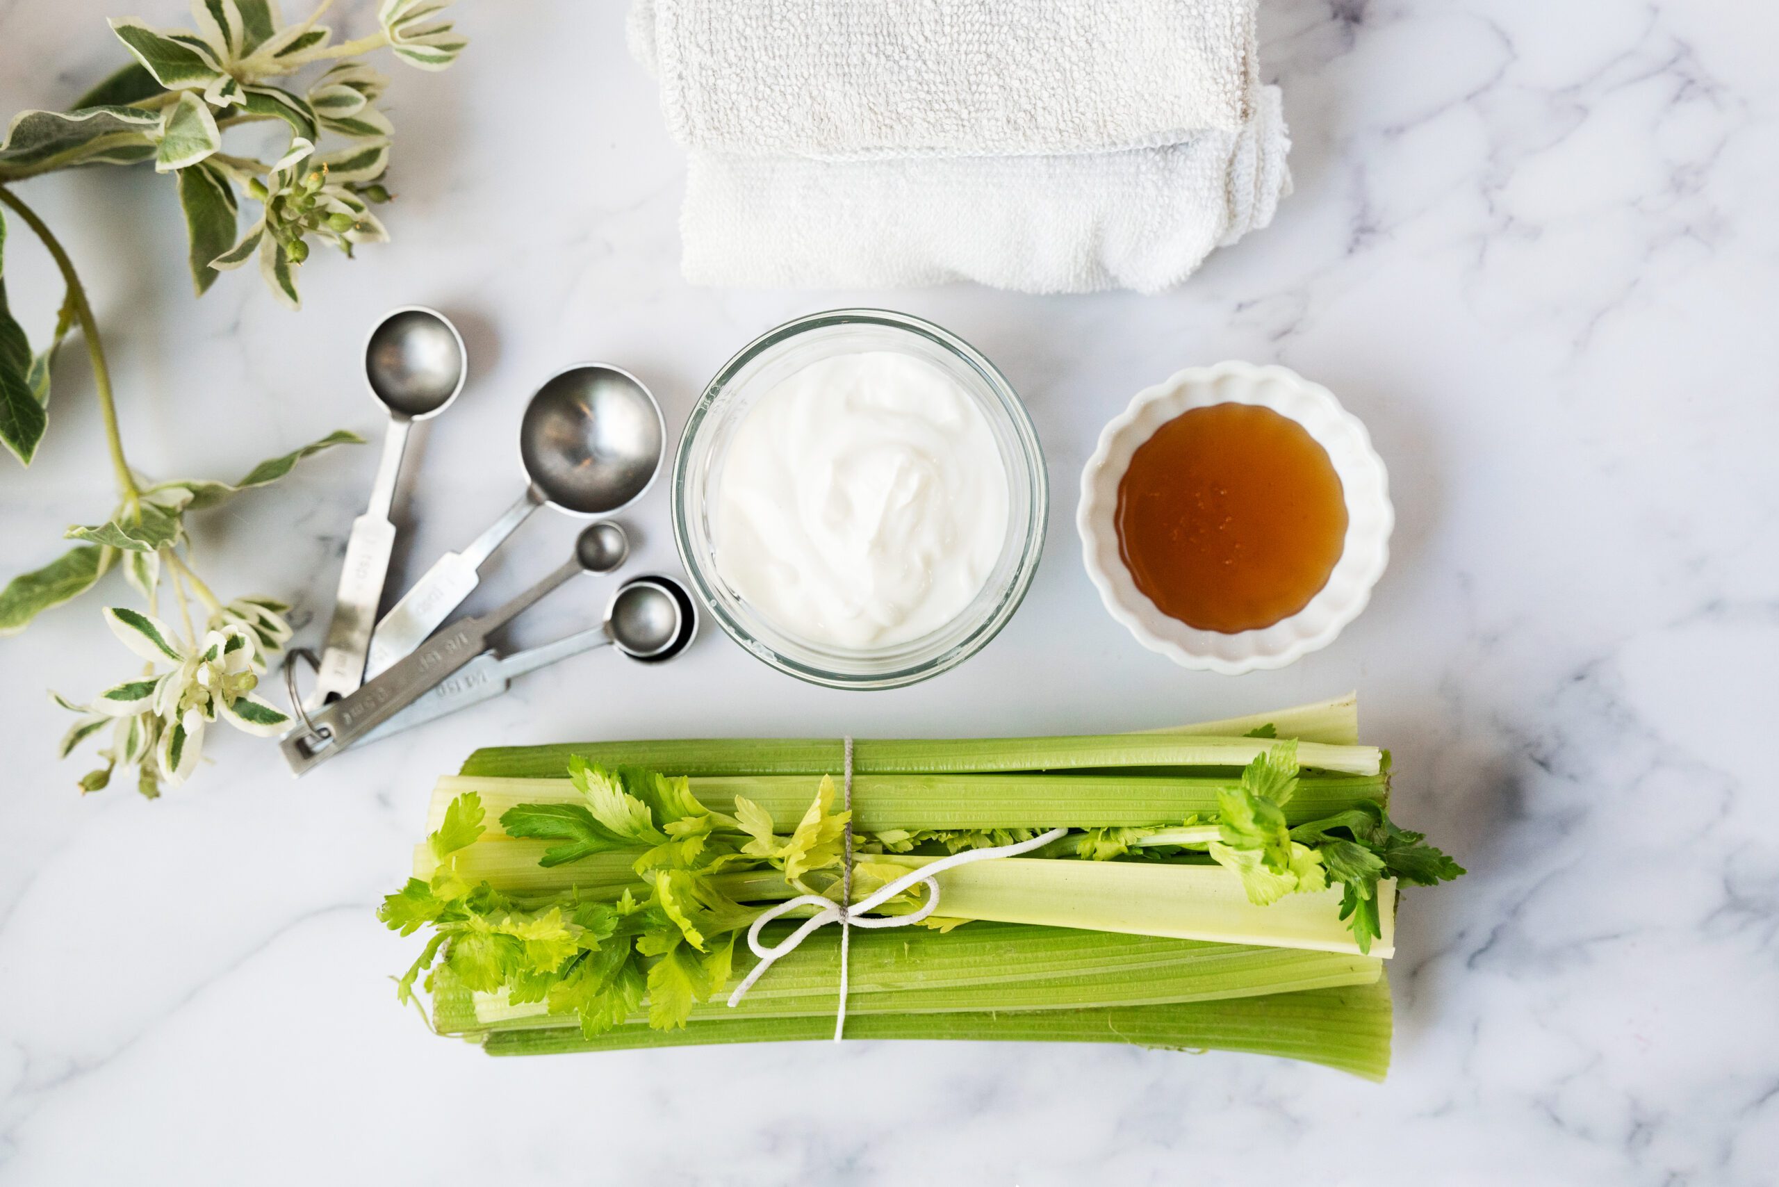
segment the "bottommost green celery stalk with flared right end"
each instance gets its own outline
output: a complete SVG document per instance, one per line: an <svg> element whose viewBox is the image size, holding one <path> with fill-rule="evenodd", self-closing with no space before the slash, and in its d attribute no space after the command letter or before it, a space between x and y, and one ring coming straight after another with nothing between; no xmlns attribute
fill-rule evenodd
<svg viewBox="0 0 1779 1187"><path fill-rule="evenodd" d="M1308 989L1270 997L1169 1005L950 1014L861 1014L847 1018L849 1039L998 1039L1016 1043L1131 1043L1169 1050L1279 1055L1382 1080L1389 1070L1389 986ZM610 1052L710 1043L831 1039L831 1016L713 1018L683 1030L626 1023L594 1038L580 1030L496 1030L489 1055Z"/></svg>

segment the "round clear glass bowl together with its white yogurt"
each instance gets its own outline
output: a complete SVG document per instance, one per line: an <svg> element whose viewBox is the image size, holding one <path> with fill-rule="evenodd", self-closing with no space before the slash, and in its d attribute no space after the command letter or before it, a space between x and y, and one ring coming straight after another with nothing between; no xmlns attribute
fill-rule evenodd
<svg viewBox="0 0 1779 1187"><path fill-rule="evenodd" d="M712 616L833 687L913 683L987 644L1030 585L1046 511L1037 434L1002 374L881 310L749 343L674 461L674 537Z"/></svg>

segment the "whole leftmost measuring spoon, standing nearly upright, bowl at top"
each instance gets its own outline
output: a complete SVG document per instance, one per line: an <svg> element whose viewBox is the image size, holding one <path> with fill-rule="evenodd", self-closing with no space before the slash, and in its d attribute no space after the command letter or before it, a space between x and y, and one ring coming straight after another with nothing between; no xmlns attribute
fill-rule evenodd
<svg viewBox="0 0 1779 1187"><path fill-rule="evenodd" d="M416 420L438 416L463 392L463 335L443 313L411 304L391 311L365 340L365 381L370 393L390 409L382 434L382 459L370 486L370 505L352 520L345 541L345 566L327 623L310 708L334 701L365 683L365 657L377 623L377 602L390 575L395 525L390 505L407 450L407 431Z"/></svg>

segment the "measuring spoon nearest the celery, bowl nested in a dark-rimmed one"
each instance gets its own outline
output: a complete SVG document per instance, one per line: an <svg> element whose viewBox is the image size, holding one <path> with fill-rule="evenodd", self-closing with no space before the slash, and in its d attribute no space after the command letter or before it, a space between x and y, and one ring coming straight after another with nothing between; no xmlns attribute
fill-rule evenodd
<svg viewBox="0 0 1779 1187"><path fill-rule="evenodd" d="M459 708L491 701L507 690L514 676L582 651L610 646L642 664L665 664L685 651L696 635L697 610L685 585L671 577L632 577L617 587L600 626L512 655L482 651L423 698L359 739L359 746L413 730Z"/></svg>

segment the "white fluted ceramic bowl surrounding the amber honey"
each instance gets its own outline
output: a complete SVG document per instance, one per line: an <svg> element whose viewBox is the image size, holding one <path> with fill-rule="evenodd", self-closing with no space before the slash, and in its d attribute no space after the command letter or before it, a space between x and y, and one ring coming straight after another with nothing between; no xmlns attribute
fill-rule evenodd
<svg viewBox="0 0 1779 1187"><path fill-rule="evenodd" d="M1347 497L1347 539L1327 585L1302 610L1263 630L1197 630L1162 614L1137 589L1119 557L1117 488L1131 454L1174 416L1211 404L1258 404L1300 424L1327 450ZM1372 448L1372 436L1359 418L1343 409L1332 392L1284 367L1231 361L1188 367L1137 393L1124 415L1099 434L1099 448L1082 472L1082 505L1075 521L1082 532L1087 575L1107 610L1124 623L1137 642L1183 667L1238 676L1284 667L1334 642L1384 575L1397 516L1389 505L1384 459Z"/></svg>

